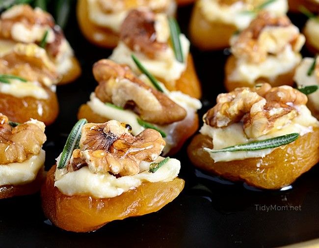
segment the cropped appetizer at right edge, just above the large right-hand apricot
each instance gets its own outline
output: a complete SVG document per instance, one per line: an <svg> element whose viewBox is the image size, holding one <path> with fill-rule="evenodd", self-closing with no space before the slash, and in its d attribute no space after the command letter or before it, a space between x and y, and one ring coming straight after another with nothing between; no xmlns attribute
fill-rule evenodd
<svg viewBox="0 0 319 248"><path fill-rule="evenodd" d="M319 119L319 63L316 58L305 57L297 67L294 82L308 94L307 106ZM306 90L306 91L305 91Z"/></svg>

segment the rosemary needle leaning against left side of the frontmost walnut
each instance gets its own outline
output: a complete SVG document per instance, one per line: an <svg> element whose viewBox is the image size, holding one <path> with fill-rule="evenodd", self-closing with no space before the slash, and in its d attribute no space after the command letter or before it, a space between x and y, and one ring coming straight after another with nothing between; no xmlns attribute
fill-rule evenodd
<svg viewBox="0 0 319 248"><path fill-rule="evenodd" d="M69 137L67 138L66 143L64 145L59 164L57 165L58 169L64 168L69 162L72 156L72 152L75 149L79 148L81 130L84 124L86 123L87 123L86 119L80 119L72 128L72 131L69 134Z"/></svg>

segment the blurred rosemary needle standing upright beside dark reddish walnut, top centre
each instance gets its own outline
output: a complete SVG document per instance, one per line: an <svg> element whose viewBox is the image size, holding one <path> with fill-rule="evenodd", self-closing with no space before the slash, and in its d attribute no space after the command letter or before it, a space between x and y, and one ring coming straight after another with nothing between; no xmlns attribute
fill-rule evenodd
<svg viewBox="0 0 319 248"><path fill-rule="evenodd" d="M170 36L171 36L171 42L173 45L173 50L175 57L177 61L183 63L184 62L184 55L183 55L183 50L182 50L182 45L181 45L181 40L180 40L180 34L181 34L181 29L176 21L175 18L169 17L168 18L168 24L169 24L169 30L170 30Z"/></svg>

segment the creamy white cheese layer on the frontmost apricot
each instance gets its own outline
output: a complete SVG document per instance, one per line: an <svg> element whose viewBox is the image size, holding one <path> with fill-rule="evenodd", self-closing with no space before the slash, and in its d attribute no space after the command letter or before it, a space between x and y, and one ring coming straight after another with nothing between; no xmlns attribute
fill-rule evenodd
<svg viewBox="0 0 319 248"><path fill-rule="evenodd" d="M156 162L163 160L159 157ZM54 186L66 195L87 194L97 198L111 198L139 187L143 182L169 182L180 172L181 162L169 159L155 173L148 172L151 163L141 162L143 171L133 176L116 178L109 173L92 173L87 166L66 173L65 169L55 170ZM66 173L66 174L65 174Z"/></svg>

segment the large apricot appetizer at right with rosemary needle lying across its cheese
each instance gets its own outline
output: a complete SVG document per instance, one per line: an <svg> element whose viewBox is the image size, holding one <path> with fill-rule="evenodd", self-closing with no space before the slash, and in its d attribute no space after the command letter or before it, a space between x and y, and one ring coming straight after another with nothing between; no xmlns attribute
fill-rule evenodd
<svg viewBox="0 0 319 248"><path fill-rule="evenodd" d="M319 122L306 103L297 89L268 83L219 94L188 156L231 181L286 187L319 162Z"/></svg>

